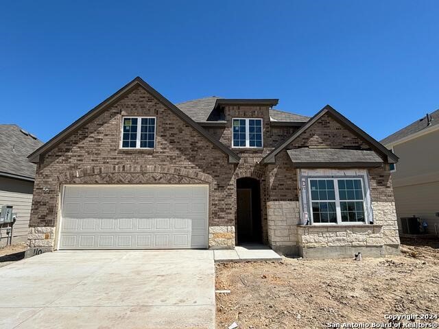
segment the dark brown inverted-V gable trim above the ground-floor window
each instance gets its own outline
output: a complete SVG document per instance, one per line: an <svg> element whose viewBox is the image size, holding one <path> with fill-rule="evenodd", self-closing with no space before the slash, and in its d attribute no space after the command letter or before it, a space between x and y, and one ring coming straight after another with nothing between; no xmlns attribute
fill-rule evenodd
<svg viewBox="0 0 439 329"><path fill-rule="evenodd" d="M322 110L320 110L314 117L312 117L305 125L302 125L300 129L292 134L285 142L281 143L277 147L275 147L269 154L267 154L262 160L261 164L263 163L274 163L275 156L280 151L282 151L285 147L287 147L292 141L294 141L302 132L305 132L313 123L316 123L318 119L320 119L324 114L331 114L333 118L335 118L337 121L348 127L351 131L353 131L357 136L360 136L365 141L367 141L370 145L372 145L375 149L377 149L381 154L386 156L388 158L389 163L395 163L398 161L398 157L395 156L391 151L389 151L384 145L380 144L377 140L372 138L372 136L368 135L364 130L361 130L357 125L346 119L340 112L337 112L334 108L327 105Z"/></svg>

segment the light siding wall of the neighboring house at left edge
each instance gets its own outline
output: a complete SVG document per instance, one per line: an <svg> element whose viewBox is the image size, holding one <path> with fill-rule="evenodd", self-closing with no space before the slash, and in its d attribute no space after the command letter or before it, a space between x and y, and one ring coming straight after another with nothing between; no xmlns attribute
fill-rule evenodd
<svg viewBox="0 0 439 329"><path fill-rule="evenodd" d="M0 206L13 206L13 211L18 216L14 224L12 243L27 241L33 186L32 182L0 178ZM0 229L0 238L0 247L3 247L6 243L5 229Z"/></svg>

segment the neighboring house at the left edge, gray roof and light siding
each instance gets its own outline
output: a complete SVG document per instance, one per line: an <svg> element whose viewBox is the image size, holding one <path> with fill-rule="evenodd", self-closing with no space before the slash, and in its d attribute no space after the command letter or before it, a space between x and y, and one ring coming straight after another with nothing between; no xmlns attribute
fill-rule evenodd
<svg viewBox="0 0 439 329"><path fill-rule="evenodd" d="M36 169L27 156L41 145L18 125L0 125L0 206L13 206L18 218L12 244L27 241ZM0 228L0 247L5 246L7 237L6 228Z"/></svg>

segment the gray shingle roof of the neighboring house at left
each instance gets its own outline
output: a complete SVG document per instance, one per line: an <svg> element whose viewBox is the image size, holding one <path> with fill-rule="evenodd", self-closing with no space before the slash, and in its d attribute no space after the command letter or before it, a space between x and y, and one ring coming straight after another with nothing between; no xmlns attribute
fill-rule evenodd
<svg viewBox="0 0 439 329"><path fill-rule="evenodd" d="M33 181L36 165L27 155L43 145L18 125L0 125L0 175Z"/></svg>

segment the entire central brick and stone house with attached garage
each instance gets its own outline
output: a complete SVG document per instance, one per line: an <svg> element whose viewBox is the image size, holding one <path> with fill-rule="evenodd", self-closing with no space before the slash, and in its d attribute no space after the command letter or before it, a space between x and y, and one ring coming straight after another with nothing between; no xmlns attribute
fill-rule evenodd
<svg viewBox="0 0 439 329"><path fill-rule="evenodd" d="M137 77L29 155L29 246L398 253L397 157L331 106L309 118L277 103L174 105Z"/></svg>

